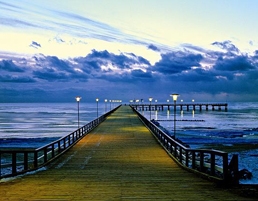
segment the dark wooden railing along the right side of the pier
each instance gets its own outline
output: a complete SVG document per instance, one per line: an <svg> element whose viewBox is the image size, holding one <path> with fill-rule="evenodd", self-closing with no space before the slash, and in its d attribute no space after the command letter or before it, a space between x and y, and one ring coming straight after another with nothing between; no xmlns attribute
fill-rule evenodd
<svg viewBox="0 0 258 201"><path fill-rule="evenodd" d="M221 184L236 185L239 183L238 163L235 162L238 161L237 155L234 155L229 163L227 152L188 148L162 131L136 109L134 111L181 167Z"/></svg>

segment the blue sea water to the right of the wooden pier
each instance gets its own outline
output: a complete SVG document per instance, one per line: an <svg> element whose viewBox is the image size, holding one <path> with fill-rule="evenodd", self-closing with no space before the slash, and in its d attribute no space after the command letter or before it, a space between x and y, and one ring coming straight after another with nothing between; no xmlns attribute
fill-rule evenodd
<svg viewBox="0 0 258 201"><path fill-rule="evenodd" d="M141 111L146 117L157 120L171 135L174 134L174 110ZM199 107L193 111L176 110L176 138L190 145L191 148L217 148L217 145L258 144L258 103L228 103L228 111L222 107L208 111ZM184 121L182 121L184 120ZM257 146L256 146L257 147ZM258 149L236 150L229 153L239 155L239 169L247 169L253 174L251 180L241 183L258 184Z"/></svg>

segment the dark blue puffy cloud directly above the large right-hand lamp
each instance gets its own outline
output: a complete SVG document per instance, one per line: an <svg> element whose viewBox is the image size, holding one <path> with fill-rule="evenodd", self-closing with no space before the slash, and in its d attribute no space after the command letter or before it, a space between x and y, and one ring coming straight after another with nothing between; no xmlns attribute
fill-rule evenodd
<svg viewBox="0 0 258 201"><path fill-rule="evenodd" d="M161 54L161 60L155 63L152 70L168 75L180 73L190 70L192 67L200 67L202 58L200 54L183 51Z"/></svg>

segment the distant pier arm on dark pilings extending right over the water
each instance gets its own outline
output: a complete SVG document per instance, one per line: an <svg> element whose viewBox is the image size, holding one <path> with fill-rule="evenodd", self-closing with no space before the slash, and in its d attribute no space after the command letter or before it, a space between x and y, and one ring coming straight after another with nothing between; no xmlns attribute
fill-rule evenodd
<svg viewBox="0 0 258 201"><path fill-rule="evenodd" d="M170 110L170 108L174 108L174 104L131 104L133 108L139 111L163 111L164 109ZM187 110L189 111L190 109L192 110L200 110L202 111L205 109L206 111L208 110L224 110L228 111L228 104L227 103L178 103L176 104L176 107L179 107L180 110Z"/></svg>

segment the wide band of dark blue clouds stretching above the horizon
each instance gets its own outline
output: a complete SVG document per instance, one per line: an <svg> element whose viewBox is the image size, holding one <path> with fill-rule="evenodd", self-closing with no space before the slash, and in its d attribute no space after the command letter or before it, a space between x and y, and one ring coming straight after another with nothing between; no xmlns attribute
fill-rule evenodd
<svg viewBox="0 0 258 201"><path fill-rule="evenodd" d="M69 59L42 54L12 60L8 57L0 61L1 90L23 83L20 90L28 97L35 90L39 96L48 94L53 101L55 92L68 100L82 91L93 98L96 94L124 94L128 99L138 98L137 94L163 96L172 91L188 96L224 93L254 97L258 93L257 52L229 56L227 51L188 45L181 51L162 53L153 65L134 53L114 54L107 50L92 50L84 57Z"/></svg>

